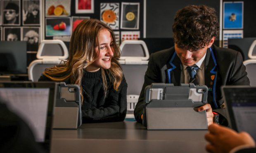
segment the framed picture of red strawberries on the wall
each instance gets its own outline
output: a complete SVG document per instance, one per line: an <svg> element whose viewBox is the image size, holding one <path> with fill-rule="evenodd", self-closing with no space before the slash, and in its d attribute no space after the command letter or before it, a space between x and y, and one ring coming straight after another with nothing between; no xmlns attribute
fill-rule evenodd
<svg viewBox="0 0 256 153"><path fill-rule="evenodd" d="M70 17L45 19L45 36L71 35Z"/></svg>

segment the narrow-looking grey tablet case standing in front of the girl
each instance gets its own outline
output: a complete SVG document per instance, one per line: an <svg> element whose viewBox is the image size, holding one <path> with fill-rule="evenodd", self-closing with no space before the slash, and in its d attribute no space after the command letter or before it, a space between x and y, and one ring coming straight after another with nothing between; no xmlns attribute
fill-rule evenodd
<svg viewBox="0 0 256 153"><path fill-rule="evenodd" d="M82 125L80 87L58 83L53 128L77 129Z"/></svg>

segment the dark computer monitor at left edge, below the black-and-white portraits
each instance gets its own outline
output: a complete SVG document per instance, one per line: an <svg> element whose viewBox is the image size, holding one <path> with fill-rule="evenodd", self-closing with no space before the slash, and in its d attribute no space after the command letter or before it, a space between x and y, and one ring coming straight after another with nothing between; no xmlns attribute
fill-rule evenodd
<svg viewBox="0 0 256 153"><path fill-rule="evenodd" d="M0 75L27 74L27 43L0 41Z"/></svg>

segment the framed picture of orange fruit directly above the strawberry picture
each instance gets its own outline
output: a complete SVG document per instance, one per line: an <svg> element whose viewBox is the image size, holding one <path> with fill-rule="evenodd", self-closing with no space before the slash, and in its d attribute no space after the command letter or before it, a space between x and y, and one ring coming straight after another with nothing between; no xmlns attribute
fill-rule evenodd
<svg viewBox="0 0 256 153"><path fill-rule="evenodd" d="M70 16L70 0L45 0L46 17Z"/></svg>

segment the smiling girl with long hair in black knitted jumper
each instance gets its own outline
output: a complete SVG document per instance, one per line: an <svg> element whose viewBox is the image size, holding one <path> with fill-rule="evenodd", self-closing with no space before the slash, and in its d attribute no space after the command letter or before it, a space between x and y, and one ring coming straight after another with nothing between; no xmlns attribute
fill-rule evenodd
<svg viewBox="0 0 256 153"><path fill-rule="evenodd" d="M96 19L74 30L69 59L47 68L38 81L64 81L80 86L83 123L123 121L127 83L118 62L113 30Z"/></svg>

